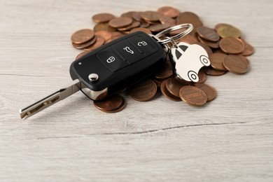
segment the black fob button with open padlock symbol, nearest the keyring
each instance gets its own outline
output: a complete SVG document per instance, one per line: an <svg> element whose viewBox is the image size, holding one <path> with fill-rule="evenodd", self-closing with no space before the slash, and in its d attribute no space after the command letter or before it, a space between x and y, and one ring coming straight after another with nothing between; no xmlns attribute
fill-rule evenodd
<svg viewBox="0 0 273 182"><path fill-rule="evenodd" d="M130 43L139 48L146 56L153 54L158 48L146 36L137 35L128 38Z"/></svg>

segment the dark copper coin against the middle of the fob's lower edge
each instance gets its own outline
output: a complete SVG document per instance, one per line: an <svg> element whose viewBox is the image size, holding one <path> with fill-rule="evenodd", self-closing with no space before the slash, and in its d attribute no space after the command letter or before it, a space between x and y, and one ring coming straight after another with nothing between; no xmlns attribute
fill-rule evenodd
<svg viewBox="0 0 273 182"><path fill-rule="evenodd" d="M141 80L130 88L130 97L136 101L144 102L153 99L158 86L153 80Z"/></svg>

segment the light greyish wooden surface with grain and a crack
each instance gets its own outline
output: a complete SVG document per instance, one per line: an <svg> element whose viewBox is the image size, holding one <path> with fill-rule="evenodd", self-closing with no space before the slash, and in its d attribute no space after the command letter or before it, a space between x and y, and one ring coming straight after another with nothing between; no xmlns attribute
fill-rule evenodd
<svg viewBox="0 0 273 182"><path fill-rule="evenodd" d="M244 75L207 78L196 108L158 95L102 113L80 92L22 121L70 83L71 34L92 15L174 6L225 22L255 47ZM273 181L273 1L0 1L0 181Z"/></svg>

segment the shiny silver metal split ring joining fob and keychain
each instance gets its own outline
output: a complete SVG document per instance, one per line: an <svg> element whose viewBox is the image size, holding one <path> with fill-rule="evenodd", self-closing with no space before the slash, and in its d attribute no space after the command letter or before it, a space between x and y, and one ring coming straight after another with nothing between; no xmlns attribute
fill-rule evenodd
<svg viewBox="0 0 273 182"><path fill-rule="evenodd" d="M193 30L193 25L190 24L190 23L185 23L185 24L181 24L181 25L176 25L174 27L169 27L169 29L165 29L163 31L160 31L158 34L156 34L155 36L160 38L160 36L163 36L163 35L166 35L166 34L169 34L169 32L171 31L174 31L174 30L177 30L177 29L184 29L184 28L187 28L185 31L182 31L181 33L179 34L176 34L175 36L172 36L172 40L176 40L176 39L179 39L181 38L182 36L186 36L187 34L190 33L190 31ZM165 38L163 40L160 40L158 41L158 43L161 43L161 44L166 44L166 43L169 43L171 42L171 39L170 38Z"/></svg>

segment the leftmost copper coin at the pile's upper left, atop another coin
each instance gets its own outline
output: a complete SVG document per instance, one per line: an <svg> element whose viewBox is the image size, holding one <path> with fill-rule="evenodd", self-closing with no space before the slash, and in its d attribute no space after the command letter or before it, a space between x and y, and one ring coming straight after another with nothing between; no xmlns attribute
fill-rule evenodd
<svg viewBox="0 0 273 182"><path fill-rule="evenodd" d="M94 38L94 31L92 29L80 29L72 34L71 41L73 43L85 43Z"/></svg>

